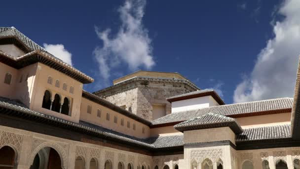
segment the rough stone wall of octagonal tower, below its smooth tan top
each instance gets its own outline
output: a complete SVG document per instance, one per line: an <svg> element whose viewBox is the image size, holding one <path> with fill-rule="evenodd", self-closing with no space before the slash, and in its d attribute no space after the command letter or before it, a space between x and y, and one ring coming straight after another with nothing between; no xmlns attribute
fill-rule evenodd
<svg viewBox="0 0 300 169"><path fill-rule="evenodd" d="M147 120L152 120L152 105L165 106L166 115L171 113L171 103L166 98L195 91L195 86L183 80L144 78L116 84L95 94L117 106Z"/></svg>

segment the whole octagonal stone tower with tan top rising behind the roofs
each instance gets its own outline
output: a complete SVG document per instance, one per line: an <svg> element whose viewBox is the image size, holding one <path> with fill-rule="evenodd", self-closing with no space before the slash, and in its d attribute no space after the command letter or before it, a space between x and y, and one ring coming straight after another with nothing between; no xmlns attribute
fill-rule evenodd
<svg viewBox="0 0 300 169"><path fill-rule="evenodd" d="M95 94L147 120L171 113L167 97L199 90L179 73L137 71Z"/></svg>

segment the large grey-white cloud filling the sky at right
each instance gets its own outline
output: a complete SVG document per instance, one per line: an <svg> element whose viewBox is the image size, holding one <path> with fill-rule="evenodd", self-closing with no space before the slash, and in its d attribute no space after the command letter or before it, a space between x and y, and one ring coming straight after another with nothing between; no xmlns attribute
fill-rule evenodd
<svg viewBox="0 0 300 169"><path fill-rule="evenodd" d="M259 53L250 76L237 85L234 102L293 96L300 54L300 1L286 0L278 12L285 18L273 25L274 38Z"/></svg>

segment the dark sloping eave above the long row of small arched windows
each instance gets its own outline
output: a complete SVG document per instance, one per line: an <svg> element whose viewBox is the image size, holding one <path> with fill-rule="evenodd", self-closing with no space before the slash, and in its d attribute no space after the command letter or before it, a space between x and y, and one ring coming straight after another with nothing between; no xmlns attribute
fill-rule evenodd
<svg viewBox="0 0 300 169"><path fill-rule="evenodd" d="M134 119L134 120L136 120L138 122L141 122L141 123L143 123L143 124L145 124L147 126L151 125L150 121L148 121L148 120L146 120L146 119L144 119L144 118L142 118L140 116L137 116L137 115L135 115L135 114L133 114L133 113L125 110L125 109L122 109L119 106L116 106L113 103L111 103L111 102L109 102L109 101L107 101L107 100L105 100L103 98L100 98L99 96L97 96L97 95L95 95L93 93L90 93L88 91L83 90L82 91L82 97L84 97L84 98L86 98L88 100L91 100L93 102L96 102L98 104L101 104L101 105L103 105L105 107L108 107L108 108L110 108L110 109L112 109L112 110L114 110L114 111L116 111L116 112L118 112L118 113L120 113L120 114L122 114L124 116L127 116L127 117L129 117L131 119Z"/></svg>

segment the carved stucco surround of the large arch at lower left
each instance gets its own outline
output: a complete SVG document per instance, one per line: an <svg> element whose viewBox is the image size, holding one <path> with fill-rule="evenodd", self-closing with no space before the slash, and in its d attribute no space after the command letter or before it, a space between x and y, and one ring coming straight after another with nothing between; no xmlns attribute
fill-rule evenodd
<svg viewBox="0 0 300 169"><path fill-rule="evenodd" d="M57 151L61 157L62 169L68 169L69 145L59 142L47 142L42 139L35 139L32 146L32 153L28 160L28 166L31 166L38 152L44 147L51 147Z"/></svg>

